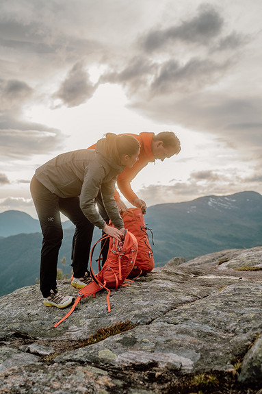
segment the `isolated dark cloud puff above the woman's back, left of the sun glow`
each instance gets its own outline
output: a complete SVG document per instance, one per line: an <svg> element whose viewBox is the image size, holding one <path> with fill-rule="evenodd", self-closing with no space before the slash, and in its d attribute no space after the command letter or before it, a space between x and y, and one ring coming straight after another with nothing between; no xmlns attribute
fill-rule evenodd
<svg viewBox="0 0 262 394"><path fill-rule="evenodd" d="M78 62L70 70L54 97L61 99L66 106L74 107L90 99L95 90L96 86L90 82L83 64Z"/></svg>

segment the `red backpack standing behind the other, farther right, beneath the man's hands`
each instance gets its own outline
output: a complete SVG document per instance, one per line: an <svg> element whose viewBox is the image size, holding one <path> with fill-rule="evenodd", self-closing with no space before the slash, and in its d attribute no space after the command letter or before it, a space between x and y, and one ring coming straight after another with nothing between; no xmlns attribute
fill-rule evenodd
<svg viewBox="0 0 262 394"><path fill-rule="evenodd" d="M135 266L131 273L129 273L129 278L146 275L146 273L149 273L154 268L154 256L147 235L147 230L150 229L144 223L142 210L140 208L129 208L121 214L121 217L124 221L125 228L134 234L138 244Z"/></svg>

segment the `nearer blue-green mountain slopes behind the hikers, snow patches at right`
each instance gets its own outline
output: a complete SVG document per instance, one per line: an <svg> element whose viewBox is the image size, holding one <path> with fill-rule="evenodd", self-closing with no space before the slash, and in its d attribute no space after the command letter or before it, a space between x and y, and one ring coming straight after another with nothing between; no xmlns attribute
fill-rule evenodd
<svg viewBox="0 0 262 394"><path fill-rule="evenodd" d="M256 192L157 204L147 208L144 219L147 227L153 230L154 245L150 232L148 236L155 267L177 256L192 260L223 249L262 245L262 196ZM64 228L58 264L68 275L73 232L72 225ZM95 228L93 240L100 236L100 230ZM0 238L0 295L35 283L39 278L41 244L40 232ZM66 264L63 265L60 260L64 258Z"/></svg>

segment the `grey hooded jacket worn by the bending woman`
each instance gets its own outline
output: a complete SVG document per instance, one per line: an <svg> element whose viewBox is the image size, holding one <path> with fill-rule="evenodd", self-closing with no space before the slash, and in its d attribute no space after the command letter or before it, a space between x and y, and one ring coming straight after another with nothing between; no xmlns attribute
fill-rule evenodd
<svg viewBox="0 0 262 394"><path fill-rule="evenodd" d="M112 223L118 228L124 223L114 199L116 177L125 169L112 157L105 156L105 138L96 149L79 149L62 153L36 170L36 179L58 197L79 196L80 208L88 220L99 228L105 221L97 212L95 199L101 190L103 204Z"/></svg>

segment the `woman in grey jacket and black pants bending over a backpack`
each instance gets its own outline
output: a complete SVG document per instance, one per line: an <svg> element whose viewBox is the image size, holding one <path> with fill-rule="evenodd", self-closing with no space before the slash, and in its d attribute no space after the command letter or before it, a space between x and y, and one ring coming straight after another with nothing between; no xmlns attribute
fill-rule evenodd
<svg viewBox="0 0 262 394"><path fill-rule="evenodd" d="M65 308L73 302L73 297L57 292L57 259L63 238L60 212L76 226L71 284L82 288L90 281L88 259L94 225L119 241L125 233L114 199L116 177L125 167L133 167L139 153L140 145L133 136L107 133L96 149L62 153L36 170L30 189L43 234L40 290L44 305ZM116 228L109 227L97 212L98 194Z"/></svg>

